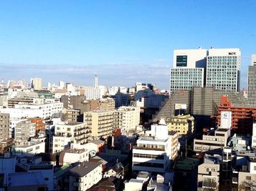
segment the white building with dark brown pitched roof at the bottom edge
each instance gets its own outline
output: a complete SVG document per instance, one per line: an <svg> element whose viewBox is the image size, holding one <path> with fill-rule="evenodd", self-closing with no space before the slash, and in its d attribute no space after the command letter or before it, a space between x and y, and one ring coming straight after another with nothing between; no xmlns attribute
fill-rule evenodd
<svg viewBox="0 0 256 191"><path fill-rule="evenodd" d="M82 162L68 170L68 190L87 190L97 184L103 176L100 162Z"/></svg>

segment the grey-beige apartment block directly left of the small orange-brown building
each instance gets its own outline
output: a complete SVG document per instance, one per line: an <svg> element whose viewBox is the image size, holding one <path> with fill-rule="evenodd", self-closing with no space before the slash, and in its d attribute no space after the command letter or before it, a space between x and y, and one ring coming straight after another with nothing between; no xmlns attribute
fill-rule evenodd
<svg viewBox="0 0 256 191"><path fill-rule="evenodd" d="M14 139L17 145L24 145L30 137L36 135L36 124L28 119L16 124Z"/></svg>

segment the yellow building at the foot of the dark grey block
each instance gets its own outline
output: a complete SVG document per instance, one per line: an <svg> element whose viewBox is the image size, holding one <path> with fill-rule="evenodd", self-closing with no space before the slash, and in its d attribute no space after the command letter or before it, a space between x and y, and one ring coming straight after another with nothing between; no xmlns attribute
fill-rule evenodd
<svg viewBox="0 0 256 191"><path fill-rule="evenodd" d="M176 131L179 135L191 135L194 132L194 117L190 114L170 117L167 120L169 131Z"/></svg>

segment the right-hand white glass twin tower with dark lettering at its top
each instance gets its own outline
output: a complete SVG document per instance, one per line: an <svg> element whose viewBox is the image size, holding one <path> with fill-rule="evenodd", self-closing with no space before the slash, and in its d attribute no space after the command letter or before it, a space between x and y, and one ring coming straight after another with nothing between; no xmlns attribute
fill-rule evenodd
<svg viewBox="0 0 256 191"><path fill-rule="evenodd" d="M240 49L209 49L206 87L240 91Z"/></svg>

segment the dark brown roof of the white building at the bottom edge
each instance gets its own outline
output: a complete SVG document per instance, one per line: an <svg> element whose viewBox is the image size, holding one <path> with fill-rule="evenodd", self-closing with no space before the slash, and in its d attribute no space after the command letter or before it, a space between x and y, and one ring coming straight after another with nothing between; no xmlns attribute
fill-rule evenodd
<svg viewBox="0 0 256 191"><path fill-rule="evenodd" d="M82 162L79 165L72 167L67 173L74 175L75 177L84 177L100 165L100 162Z"/></svg>

